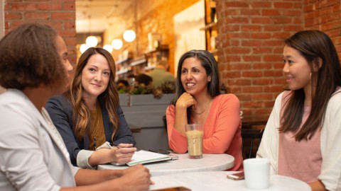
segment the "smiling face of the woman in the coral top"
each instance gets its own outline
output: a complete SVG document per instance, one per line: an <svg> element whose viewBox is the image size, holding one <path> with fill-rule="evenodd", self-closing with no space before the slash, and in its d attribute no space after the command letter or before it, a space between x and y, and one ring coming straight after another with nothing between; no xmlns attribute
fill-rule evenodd
<svg viewBox="0 0 341 191"><path fill-rule="evenodd" d="M202 93L207 94L207 83L211 77L207 76L205 68L199 59L195 57L187 58L181 67L181 83L187 93L198 96Z"/></svg>

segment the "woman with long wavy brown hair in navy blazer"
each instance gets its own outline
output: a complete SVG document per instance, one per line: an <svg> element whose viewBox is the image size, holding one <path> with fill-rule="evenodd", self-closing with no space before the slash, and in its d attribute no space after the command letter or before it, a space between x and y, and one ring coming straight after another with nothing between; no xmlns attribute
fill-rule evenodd
<svg viewBox="0 0 341 191"><path fill-rule="evenodd" d="M90 47L79 59L70 89L46 104L74 166L127 163L136 151L119 106L115 71L114 59L107 50Z"/></svg>

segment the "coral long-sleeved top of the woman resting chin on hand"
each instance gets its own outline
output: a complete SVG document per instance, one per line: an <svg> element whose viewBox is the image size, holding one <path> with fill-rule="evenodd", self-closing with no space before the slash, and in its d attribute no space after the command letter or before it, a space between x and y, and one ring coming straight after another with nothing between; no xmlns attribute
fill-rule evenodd
<svg viewBox="0 0 341 191"><path fill-rule="evenodd" d="M242 123L239 115L240 103L233 94L223 94L212 100L210 113L204 124L204 154L229 154L234 156L234 167L242 170ZM183 154L187 149L187 139L174 128L175 106L166 110L168 144L175 153Z"/></svg>

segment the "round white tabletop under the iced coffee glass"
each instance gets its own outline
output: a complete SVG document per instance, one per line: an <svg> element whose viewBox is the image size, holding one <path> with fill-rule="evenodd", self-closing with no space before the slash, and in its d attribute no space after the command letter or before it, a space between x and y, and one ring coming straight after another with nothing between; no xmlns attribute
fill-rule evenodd
<svg viewBox="0 0 341 191"><path fill-rule="evenodd" d="M199 171L222 171L234 166L234 157L228 154L202 154L200 159L190 159L188 154L174 154L178 160L144 164L151 172L151 176L171 173L188 173ZM124 169L128 166L99 165L98 170Z"/></svg>

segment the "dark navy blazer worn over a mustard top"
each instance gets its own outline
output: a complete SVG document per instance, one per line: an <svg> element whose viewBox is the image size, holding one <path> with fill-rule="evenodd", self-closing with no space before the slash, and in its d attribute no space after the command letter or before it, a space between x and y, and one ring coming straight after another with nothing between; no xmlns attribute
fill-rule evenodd
<svg viewBox="0 0 341 191"><path fill-rule="evenodd" d="M108 142L112 142L112 132L113 125L109 121L108 111L104 106L104 103L100 102L102 116L103 116L103 124L104 124L104 133L105 139ZM72 106L69 101L63 95L54 96L50 98L45 106L48 114L50 115L53 124L57 127L58 132L63 137L63 141L67 147L67 151L70 154L71 163L74 166L77 166L77 154L80 150L86 149L89 150L89 137L87 134L83 137L82 140L77 139L75 134L73 134L73 123L72 123ZM129 125L124 118L123 111L121 107L118 105L117 107L117 116L119 117L119 129L114 137L114 144L134 144L134 137L131 135L131 130L129 129Z"/></svg>

